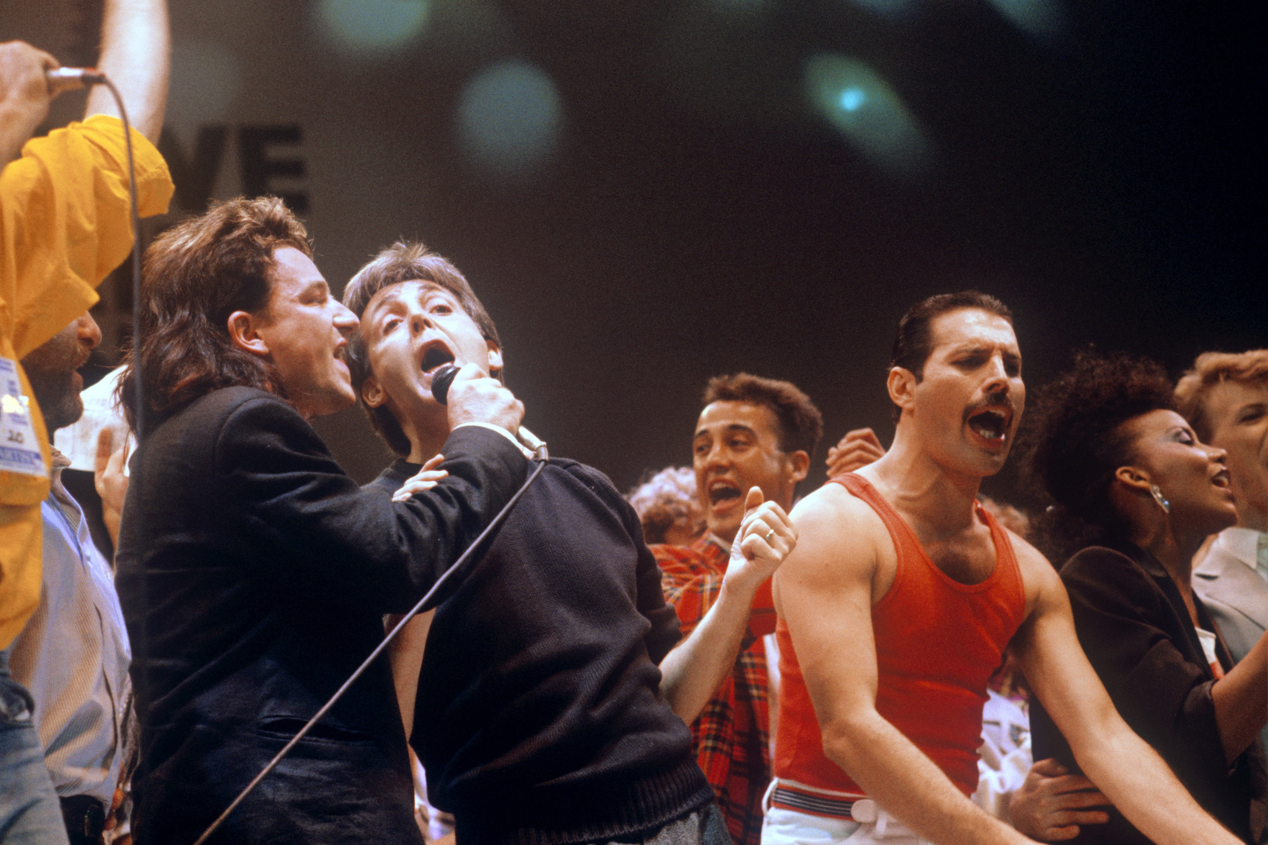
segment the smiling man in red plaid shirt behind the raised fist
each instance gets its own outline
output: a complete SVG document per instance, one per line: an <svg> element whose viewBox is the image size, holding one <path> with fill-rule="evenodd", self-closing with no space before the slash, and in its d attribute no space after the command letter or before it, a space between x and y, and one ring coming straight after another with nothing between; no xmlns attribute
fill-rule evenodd
<svg viewBox="0 0 1268 845"><path fill-rule="evenodd" d="M664 598L689 635L718 600L730 542L744 516L744 492L791 509L798 481L823 433L823 417L787 381L716 376L704 394L692 440L696 490L708 533L690 549L652 546ZM771 780L770 702L763 637L775 632L767 580L757 592L735 665L692 723L696 759L718 793L735 845L758 845L762 793Z"/></svg>

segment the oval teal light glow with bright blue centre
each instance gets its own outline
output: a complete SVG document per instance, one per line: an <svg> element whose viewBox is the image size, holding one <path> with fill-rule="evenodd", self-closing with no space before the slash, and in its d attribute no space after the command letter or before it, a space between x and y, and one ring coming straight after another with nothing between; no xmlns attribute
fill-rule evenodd
<svg viewBox="0 0 1268 845"><path fill-rule="evenodd" d="M820 53L806 62L805 80L815 110L872 163L898 174L928 163L929 144L919 123L874 70Z"/></svg>

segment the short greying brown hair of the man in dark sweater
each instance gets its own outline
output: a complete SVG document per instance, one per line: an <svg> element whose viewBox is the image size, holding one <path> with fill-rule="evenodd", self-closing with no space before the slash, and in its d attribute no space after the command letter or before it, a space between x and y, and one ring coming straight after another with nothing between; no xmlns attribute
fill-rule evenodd
<svg viewBox="0 0 1268 845"><path fill-rule="evenodd" d="M375 294L384 288L407 281L430 281L451 293L467 315L476 323L484 340L493 341L501 348L502 341L497 336L497 326L493 324L483 303L472 290L467 279L463 277L463 274L458 271L458 267L415 241L397 241L388 248L379 251L368 265L358 270L344 290L344 304L360 319L365 313L365 307L370 304ZM366 356L365 338L360 331L356 331L349 341L347 364L353 372L353 390L356 393L356 402L369 417L370 426L393 452L407 456L410 438L404 436L401 423L392 416L392 412L388 410L387 405L372 408L361 398L361 385L370 376L370 361Z"/></svg>

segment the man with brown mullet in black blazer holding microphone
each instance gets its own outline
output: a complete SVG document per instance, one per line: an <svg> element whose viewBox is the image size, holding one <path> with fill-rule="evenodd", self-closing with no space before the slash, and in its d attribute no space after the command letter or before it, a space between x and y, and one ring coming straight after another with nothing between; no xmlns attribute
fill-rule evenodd
<svg viewBox="0 0 1268 845"><path fill-rule="evenodd" d="M118 589L142 720L138 845L191 842L526 478L522 405L476 367L422 490L363 493L308 419L353 404L356 318L280 200L161 234L120 395L145 388ZM137 362L141 362L138 370ZM420 550L425 550L420 552ZM387 659L228 817L216 842L421 842Z"/></svg>

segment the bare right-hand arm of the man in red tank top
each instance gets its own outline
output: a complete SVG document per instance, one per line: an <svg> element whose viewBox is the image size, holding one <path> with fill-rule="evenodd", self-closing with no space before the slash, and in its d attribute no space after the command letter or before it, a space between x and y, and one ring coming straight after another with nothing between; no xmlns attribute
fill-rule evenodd
<svg viewBox="0 0 1268 845"><path fill-rule="evenodd" d="M1014 644L1022 670L1084 774L1159 845L1239 840L1211 818L1110 701L1079 646L1070 599L1051 565L1013 537L1033 609Z"/></svg>

